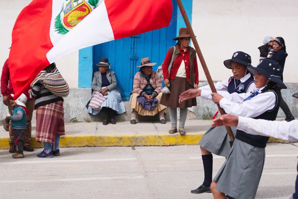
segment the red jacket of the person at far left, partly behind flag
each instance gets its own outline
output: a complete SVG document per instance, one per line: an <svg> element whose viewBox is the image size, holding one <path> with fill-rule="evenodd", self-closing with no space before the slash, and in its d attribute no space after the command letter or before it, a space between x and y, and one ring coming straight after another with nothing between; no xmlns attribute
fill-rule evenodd
<svg viewBox="0 0 298 199"><path fill-rule="evenodd" d="M21 74L21 72L20 72ZM27 99L34 99L30 98L30 95L28 93L28 90L32 89L32 87L28 87L25 91L24 94L27 96ZM10 94L15 94L13 91L13 85L11 84L10 81L10 73L9 73L9 67L8 67L8 59L5 61L3 68L2 68L2 74L1 74L1 94L3 96L7 96L10 99L13 99L13 97Z"/></svg>

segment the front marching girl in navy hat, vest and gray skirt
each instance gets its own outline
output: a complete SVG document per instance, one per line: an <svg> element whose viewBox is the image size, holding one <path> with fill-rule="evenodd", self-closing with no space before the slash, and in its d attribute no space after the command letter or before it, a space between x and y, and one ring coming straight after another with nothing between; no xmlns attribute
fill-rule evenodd
<svg viewBox="0 0 298 199"><path fill-rule="evenodd" d="M277 90L287 88L281 81L283 69L275 61L266 59L261 60L257 67L247 67L247 70L254 75L258 90L252 94L212 93L214 103L231 115L275 120L281 98ZM250 135L237 129L229 156L211 183L214 198L225 198L225 194L240 199L255 198L268 139L267 136Z"/></svg>

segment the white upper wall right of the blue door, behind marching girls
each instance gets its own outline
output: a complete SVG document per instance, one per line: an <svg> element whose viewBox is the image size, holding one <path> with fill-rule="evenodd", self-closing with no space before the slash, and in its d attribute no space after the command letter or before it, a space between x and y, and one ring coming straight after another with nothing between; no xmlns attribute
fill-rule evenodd
<svg viewBox="0 0 298 199"><path fill-rule="evenodd" d="M288 57L284 81L298 83L298 1L193 0L192 26L213 80L231 75L223 61L236 51L252 56L257 66L265 36L285 39ZM199 79L206 80L199 64Z"/></svg>

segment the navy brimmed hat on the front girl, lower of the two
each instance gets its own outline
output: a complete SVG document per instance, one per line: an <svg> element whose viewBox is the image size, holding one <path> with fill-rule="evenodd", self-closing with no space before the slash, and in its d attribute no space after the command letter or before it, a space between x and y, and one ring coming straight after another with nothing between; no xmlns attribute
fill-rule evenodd
<svg viewBox="0 0 298 199"><path fill-rule="evenodd" d="M277 83L277 87L280 87L283 89L287 88L286 85L281 80L281 76L283 75L283 69L275 61L272 61L269 59L263 59L260 61L257 67L249 66L247 67L247 70L251 72L253 75L255 75L256 72L261 73L270 81Z"/></svg>

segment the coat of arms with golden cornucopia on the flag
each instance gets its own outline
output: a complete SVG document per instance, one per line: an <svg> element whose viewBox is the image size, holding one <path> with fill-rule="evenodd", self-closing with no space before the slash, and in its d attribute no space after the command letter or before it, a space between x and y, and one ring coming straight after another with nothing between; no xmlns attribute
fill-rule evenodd
<svg viewBox="0 0 298 199"><path fill-rule="evenodd" d="M60 35L68 33L98 6L98 2L99 0L66 0L55 18L55 31Z"/></svg>

